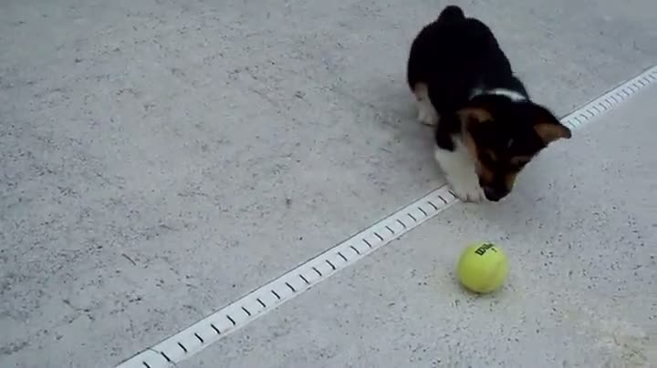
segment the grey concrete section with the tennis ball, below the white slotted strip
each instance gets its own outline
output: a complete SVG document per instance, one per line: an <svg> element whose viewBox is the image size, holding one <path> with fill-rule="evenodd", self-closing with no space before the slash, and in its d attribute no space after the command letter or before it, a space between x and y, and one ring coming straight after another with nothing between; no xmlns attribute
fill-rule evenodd
<svg viewBox="0 0 657 368"><path fill-rule="evenodd" d="M655 100L652 87L545 152L505 202L457 204L178 365L657 366ZM475 296L454 267L482 240L510 271Z"/></svg>

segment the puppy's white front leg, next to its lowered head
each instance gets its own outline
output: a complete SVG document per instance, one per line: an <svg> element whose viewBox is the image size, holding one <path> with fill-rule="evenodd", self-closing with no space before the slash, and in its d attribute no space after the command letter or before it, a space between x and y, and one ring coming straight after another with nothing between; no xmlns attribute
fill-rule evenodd
<svg viewBox="0 0 657 368"><path fill-rule="evenodd" d="M474 161L462 145L455 145L454 151L436 147L434 155L456 197L472 202L485 199Z"/></svg>

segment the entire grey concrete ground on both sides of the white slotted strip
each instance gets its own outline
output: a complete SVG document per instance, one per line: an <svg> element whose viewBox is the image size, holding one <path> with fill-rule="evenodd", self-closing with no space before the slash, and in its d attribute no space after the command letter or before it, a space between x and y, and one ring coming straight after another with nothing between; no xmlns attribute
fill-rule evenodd
<svg viewBox="0 0 657 368"><path fill-rule="evenodd" d="M404 63L445 4L0 3L0 367L120 363L442 185ZM460 4L559 114L657 64L651 0ZM649 364L656 96L180 365Z"/></svg>

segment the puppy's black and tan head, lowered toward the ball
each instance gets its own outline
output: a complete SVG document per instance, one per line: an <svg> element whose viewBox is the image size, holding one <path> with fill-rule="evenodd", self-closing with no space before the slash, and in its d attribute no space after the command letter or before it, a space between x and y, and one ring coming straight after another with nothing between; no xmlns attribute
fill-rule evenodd
<svg viewBox="0 0 657 368"><path fill-rule="evenodd" d="M459 110L464 144L474 158L486 199L500 200L517 174L548 144L570 138L547 108L501 96L477 97Z"/></svg>

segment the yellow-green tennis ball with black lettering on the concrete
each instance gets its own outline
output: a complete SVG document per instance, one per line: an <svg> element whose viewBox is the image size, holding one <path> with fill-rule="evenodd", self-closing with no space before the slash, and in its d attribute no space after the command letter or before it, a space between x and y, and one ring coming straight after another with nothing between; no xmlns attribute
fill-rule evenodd
<svg viewBox="0 0 657 368"><path fill-rule="evenodd" d="M457 274L465 288L478 293L495 291L504 283L508 261L493 243L473 244L465 248Z"/></svg>

